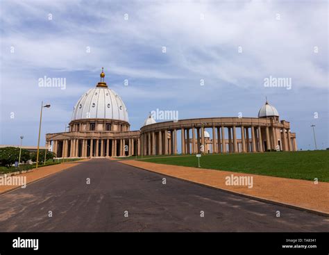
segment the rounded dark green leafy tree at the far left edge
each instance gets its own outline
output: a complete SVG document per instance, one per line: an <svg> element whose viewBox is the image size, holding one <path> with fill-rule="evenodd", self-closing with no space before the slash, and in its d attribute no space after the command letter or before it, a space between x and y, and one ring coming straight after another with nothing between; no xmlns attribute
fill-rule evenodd
<svg viewBox="0 0 329 255"><path fill-rule="evenodd" d="M19 148L17 147L4 147L0 148L0 165L10 167L19 158ZM26 162L30 159L30 152L22 149L21 162Z"/></svg>

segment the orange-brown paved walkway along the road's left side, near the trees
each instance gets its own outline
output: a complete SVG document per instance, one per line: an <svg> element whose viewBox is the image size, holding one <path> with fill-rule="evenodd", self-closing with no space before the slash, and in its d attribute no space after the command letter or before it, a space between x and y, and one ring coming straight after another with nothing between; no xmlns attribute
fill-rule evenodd
<svg viewBox="0 0 329 255"><path fill-rule="evenodd" d="M84 159L82 161L88 161L88 159ZM15 176L26 176L26 183L28 184L33 181L37 181L39 179L47 177L51 174L55 174L62 170L66 170L67 168L73 167L74 165L78 165L82 161L71 161L71 162L65 162L65 163L60 163L60 164L56 164L56 165L49 165L47 167L40 167L37 170L33 169L32 172L27 172L25 174L17 174ZM12 175L12 176L14 176L14 175ZM8 190L13 190L17 187L19 187L19 186L0 186L0 194L3 192L7 192Z"/></svg>

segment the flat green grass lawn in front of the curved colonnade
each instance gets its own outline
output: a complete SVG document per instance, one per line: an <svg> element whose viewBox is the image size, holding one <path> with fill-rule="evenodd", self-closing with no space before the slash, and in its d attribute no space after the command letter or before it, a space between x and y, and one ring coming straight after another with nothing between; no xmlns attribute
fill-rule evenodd
<svg viewBox="0 0 329 255"><path fill-rule="evenodd" d="M193 156L144 159L151 163L198 167ZM262 154L208 154L200 158L202 168L262 174L291 179L329 182L329 151L280 151Z"/></svg>

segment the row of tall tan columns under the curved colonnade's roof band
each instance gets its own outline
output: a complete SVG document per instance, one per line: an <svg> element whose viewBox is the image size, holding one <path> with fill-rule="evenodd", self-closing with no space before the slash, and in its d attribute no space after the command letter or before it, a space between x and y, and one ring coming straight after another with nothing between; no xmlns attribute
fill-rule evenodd
<svg viewBox="0 0 329 255"><path fill-rule="evenodd" d="M296 138L289 129L275 126L208 126L212 139L205 138L204 126L181 126L175 129L145 131L142 133L143 155L178 154L178 131L180 153L246 153L270 150L296 151ZM237 136L240 138L238 139ZM282 142L281 142L282 141Z"/></svg>

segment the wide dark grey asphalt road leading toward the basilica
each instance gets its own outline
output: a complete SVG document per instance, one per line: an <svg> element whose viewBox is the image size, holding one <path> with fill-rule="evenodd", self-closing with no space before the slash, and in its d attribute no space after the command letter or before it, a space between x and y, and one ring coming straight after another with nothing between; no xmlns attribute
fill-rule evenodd
<svg viewBox="0 0 329 255"><path fill-rule="evenodd" d="M106 159L0 195L0 205L0 231L329 231L327 217Z"/></svg>

